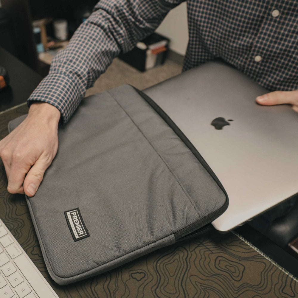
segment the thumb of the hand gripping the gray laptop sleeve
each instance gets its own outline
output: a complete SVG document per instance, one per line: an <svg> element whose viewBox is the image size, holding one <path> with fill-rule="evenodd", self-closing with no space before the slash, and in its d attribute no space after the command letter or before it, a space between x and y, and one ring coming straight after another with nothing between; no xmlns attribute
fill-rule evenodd
<svg viewBox="0 0 298 298"><path fill-rule="evenodd" d="M32 197L38 190L42 179L44 178L44 172L48 168L49 163L38 159L35 164L31 167L27 176L24 180L23 188L26 195Z"/></svg>

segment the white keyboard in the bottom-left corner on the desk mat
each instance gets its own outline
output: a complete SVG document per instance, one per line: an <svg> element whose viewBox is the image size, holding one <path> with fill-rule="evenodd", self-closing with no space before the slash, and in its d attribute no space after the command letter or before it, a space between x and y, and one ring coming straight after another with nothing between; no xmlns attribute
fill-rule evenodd
<svg viewBox="0 0 298 298"><path fill-rule="evenodd" d="M0 298L59 298L0 219Z"/></svg>

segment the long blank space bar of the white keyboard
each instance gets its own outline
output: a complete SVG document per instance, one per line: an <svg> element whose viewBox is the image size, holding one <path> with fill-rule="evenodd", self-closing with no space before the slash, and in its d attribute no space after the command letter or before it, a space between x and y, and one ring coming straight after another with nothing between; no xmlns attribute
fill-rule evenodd
<svg viewBox="0 0 298 298"><path fill-rule="evenodd" d="M42 298L55 298L57 295L53 294L50 290L49 285L46 284L45 280L38 274L35 268L31 265L27 257L24 254L17 257L15 260L15 265L21 270L21 272L26 276L28 283L32 286L34 291L39 297ZM1 297L0 297L1 298Z"/></svg>

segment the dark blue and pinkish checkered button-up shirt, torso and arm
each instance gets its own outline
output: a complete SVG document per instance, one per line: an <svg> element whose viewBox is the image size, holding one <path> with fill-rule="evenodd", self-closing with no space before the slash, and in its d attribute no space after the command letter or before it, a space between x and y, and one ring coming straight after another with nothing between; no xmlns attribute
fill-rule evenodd
<svg viewBox="0 0 298 298"><path fill-rule="evenodd" d="M28 99L55 105L63 122L120 52L151 34L182 0L101 0ZM187 0L183 70L222 58L269 90L298 89L298 1Z"/></svg>

